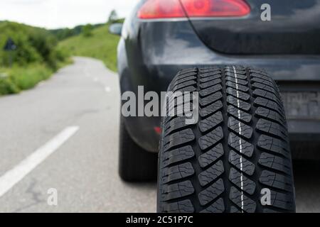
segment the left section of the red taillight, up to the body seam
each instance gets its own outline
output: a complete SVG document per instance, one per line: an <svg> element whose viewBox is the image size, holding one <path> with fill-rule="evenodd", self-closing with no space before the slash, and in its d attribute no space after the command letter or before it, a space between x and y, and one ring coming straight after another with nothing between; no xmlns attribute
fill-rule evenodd
<svg viewBox="0 0 320 227"><path fill-rule="evenodd" d="M186 17L179 0L147 0L138 12L142 19Z"/></svg>

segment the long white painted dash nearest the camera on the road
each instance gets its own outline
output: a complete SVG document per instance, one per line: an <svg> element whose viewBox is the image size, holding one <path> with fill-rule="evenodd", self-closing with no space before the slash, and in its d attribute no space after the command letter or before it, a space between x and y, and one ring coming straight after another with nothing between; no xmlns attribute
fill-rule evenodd
<svg viewBox="0 0 320 227"><path fill-rule="evenodd" d="M65 128L61 133L55 136L48 143L38 148L34 153L26 157L16 167L4 173L0 177L0 197L9 192L15 184L26 177L33 169L35 169L41 162L46 160L55 150L58 150L63 143L65 143L71 136L79 130L78 126L70 126Z"/></svg>

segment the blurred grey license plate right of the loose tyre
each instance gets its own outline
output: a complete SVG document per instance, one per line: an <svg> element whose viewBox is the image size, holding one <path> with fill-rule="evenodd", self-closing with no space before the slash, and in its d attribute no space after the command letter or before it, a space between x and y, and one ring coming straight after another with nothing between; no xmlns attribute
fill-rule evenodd
<svg viewBox="0 0 320 227"><path fill-rule="evenodd" d="M319 119L320 92L282 92L287 119Z"/></svg>

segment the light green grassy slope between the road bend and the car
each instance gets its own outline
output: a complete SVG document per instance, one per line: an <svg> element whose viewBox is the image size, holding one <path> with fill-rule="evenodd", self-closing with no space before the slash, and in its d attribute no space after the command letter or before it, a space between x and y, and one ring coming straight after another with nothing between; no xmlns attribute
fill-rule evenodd
<svg viewBox="0 0 320 227"><path fill-rule="evenodd" d="M101 26L92 31L90 37L77 35L63 40L58 45L73 56L95 57L105 62L105 65L114 72L117 71L117 44L119 36L112 35L108 26Z"/></svg>

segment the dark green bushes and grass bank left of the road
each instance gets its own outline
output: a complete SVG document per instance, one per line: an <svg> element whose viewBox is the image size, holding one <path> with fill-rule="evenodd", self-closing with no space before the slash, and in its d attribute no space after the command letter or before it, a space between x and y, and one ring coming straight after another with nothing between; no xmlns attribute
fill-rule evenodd
<svg viewBox="0 0 320 227"><path fill-rule="evenodd" d="M0 95L35 87L70 62L68 52L58 49L57 38L45 29L5 21L0 22L0 31L0 69L9 75L0 78ZM3 50L8 38L14 40L16 50ZM14 62L12 68L9 55Z"/></svg>

